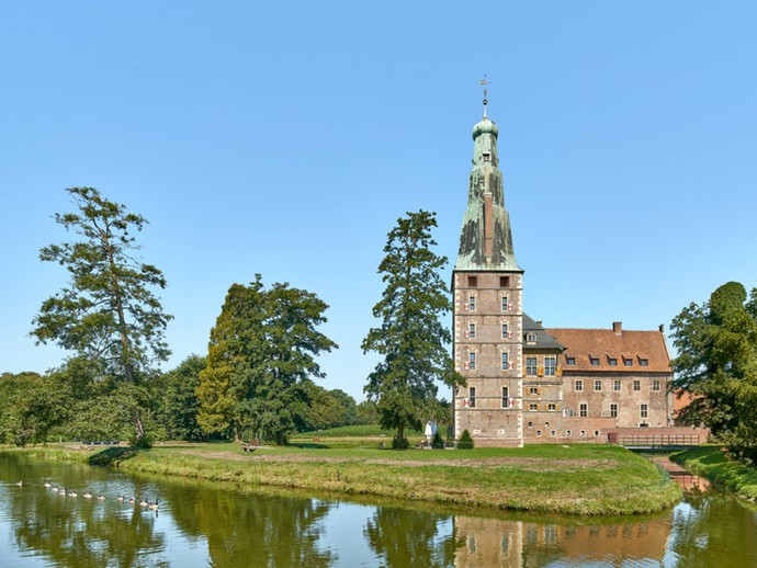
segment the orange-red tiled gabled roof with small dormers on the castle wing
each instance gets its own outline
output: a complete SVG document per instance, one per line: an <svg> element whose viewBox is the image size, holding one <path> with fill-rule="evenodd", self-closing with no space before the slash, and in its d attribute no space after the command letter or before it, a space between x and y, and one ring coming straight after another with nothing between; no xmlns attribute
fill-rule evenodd
<svg viewBox="0 0 757 568"><path fill-rule="evenodd" d="M564 371L611 371L613 373L670 373L670 354L665 334L655 331L626 331L620 322L613 329L547 329L567 349L562 354ZM576 360L567 365L567 359ZM590 359L599 360L592 365ZM617 365L610 365L614 359ZM625 361L631 361L626 366ZM647 365L642 366L642 360Z"/></svg>

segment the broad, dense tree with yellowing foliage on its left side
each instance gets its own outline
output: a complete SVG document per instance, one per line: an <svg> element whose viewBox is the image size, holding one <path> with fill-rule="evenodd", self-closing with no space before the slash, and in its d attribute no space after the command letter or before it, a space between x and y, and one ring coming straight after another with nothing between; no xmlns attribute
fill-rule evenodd
<svg viewBox="0 0 757 568"><path fill-rule="evenodd" d="M306 382L323 377L315 356L337 344L316 328L328 308L289 284L265 289L260 274L234 284L211 330L207 367L200 374L197 421L207 433L252 428L285 443L306 399Z"/></svg>

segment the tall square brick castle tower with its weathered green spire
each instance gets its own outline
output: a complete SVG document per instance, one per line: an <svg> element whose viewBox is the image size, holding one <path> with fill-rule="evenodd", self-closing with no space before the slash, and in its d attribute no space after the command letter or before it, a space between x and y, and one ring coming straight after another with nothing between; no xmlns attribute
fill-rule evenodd
<svg viewBox="0 0 757 568"><path fill-rule="evenodd" d="M452 272L454 360L467 386L455 391L455 438L477 446L522 446L522 282L497 157L499 128L473 127L473 169Z"/></svg>

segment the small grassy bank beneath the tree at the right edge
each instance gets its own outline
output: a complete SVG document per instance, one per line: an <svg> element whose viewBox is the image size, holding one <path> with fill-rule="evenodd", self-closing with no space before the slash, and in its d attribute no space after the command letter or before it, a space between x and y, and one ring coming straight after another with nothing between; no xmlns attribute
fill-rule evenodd
<svg viewBox="0 0 757 568"><path fill-rule="evenodd" d="M757 502L757 468L728 458L720 446L704 445L676 452L670 459L700 477L722 485L743 499Z"/></svg>

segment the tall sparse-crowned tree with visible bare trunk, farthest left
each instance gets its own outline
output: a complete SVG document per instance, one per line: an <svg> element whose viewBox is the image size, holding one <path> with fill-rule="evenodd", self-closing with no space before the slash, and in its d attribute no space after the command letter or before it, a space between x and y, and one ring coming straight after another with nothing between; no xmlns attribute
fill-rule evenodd
<svg viewBox="0 0 757 568"><path fill-rule="evenodd" d="M66 191L77 212L58 213L55 220L80 238L43 248L39 259L66 266L70 282L43 302L31 334L37 344L55 342L101 361L113 377L139 386L150 364L170 354L163 337L171 316L151 291L163 288L166 280L136 258L139 246L131 234L147 220L95 189ZM133 420L140 442L145 430L138 408Z"/></svg>

